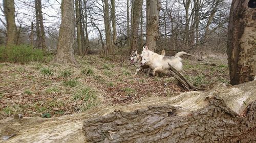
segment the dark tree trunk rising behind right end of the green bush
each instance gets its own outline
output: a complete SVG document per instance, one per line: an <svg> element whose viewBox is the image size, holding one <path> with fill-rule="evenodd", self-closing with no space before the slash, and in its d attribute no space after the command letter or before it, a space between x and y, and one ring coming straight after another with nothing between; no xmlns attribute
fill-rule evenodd
<svg viewBox="0 0 256 143"><path fill-rule="evenodd" d="M44 21L42 18L42 5L41 0L35 0L35 12L36 12L36 35L37 37L37 46L42 50L46 51L46 37L44 29Z"/></svg>

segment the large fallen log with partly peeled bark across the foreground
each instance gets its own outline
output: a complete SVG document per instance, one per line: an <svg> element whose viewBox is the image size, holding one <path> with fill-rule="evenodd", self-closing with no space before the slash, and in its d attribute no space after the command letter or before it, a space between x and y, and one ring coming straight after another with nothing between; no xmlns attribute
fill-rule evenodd
<svg viewBox="0 0 256 143"><path fill-rule="evenodd" d="M255 87L251 81L58 118L8 118L0 120L0 142L255 142Z"/></svg>

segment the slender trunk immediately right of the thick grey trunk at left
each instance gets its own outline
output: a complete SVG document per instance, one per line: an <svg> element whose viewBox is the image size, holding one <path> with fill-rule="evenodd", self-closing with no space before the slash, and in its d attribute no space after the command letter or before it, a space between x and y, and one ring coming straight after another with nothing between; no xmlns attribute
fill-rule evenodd
<svg viewBox="0 0 256 143"><path fill-rule="evenodd" d="M82 55L82 42L81 42L81 25L80 25L80 9L79 9L79 3L78 0L75 0L75 6L76 6L76 34L77 34L77 49L78 49L78 55Z"/></svg>

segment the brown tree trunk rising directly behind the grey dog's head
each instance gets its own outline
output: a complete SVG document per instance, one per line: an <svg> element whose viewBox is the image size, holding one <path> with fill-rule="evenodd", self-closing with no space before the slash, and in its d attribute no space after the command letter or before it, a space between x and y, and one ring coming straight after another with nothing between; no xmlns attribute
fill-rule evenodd
<svg viewBox="0 0 256 143"><path fill-rule="evenodd" d="M141 17L141 9L142 9L143 0L137 0L134 2L133 7L133 24L132 24L132 42L131 42L131 50L137 50L138 49L138 33L139 33L139 23L140 23L140 17Z"/></svg>

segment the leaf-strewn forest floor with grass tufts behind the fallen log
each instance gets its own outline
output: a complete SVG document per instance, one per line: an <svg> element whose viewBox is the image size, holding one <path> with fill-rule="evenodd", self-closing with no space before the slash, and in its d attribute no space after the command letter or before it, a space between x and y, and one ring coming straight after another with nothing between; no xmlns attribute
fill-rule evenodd
<svg viewBox="0 0 256 143"><path fill-rule="evenodd" d="M0 63L0 119L56 117L82 112L99 104L131 104L147 97L176 96L185 90L169 74L160 77L140 72L128 57L105 60L99 55L76 57L79 67L50 63ZM216 82L228 83L226 56L183 60L181 73L207 90Z"/></svg>

